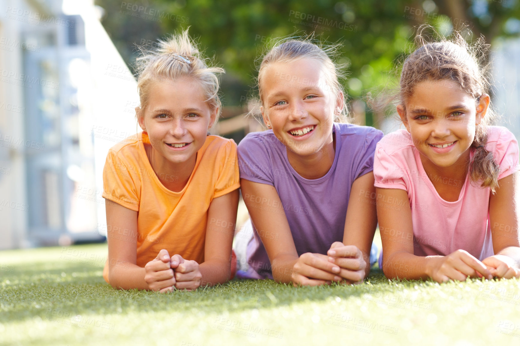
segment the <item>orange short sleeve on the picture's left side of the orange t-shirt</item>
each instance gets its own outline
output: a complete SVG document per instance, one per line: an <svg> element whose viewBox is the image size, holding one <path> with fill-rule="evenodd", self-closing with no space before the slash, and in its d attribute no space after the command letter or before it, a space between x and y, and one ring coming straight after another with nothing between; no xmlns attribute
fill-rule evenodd
<svg viewBox="0 0 520 346"><path fill-rule="evenodd" d="M109 150L103 168L102 196L125 208L139 211L139 197L134 179L139 179L137 172L128 169L118 154Z"/></svg>

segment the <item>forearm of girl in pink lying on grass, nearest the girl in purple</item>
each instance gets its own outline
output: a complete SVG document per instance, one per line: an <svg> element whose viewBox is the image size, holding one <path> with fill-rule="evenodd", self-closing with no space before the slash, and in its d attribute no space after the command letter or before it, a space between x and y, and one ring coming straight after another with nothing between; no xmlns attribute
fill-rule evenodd
<svg viewBox="0 0 520 346"><path fill-rule="evenodd" d="M432 264L444 256L415 256L409 252L395 252L385 259L383 253L383 272L386 277L427 280L431 277Z"/></svg>

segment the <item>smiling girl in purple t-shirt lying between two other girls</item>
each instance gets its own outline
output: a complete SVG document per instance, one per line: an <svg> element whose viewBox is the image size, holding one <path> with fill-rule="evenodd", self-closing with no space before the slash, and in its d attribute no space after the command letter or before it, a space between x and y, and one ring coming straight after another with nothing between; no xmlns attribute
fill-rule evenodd
<svg viewBox="0 0 520 346"><path fill-rule="evenodd" d="M382 132L334 123L345 114L344 92L332 60L310 42L272 48L258 89L270 130L238 146L254 230L249 276L295 286L362 281L377 224L372 167Z"/></svg>

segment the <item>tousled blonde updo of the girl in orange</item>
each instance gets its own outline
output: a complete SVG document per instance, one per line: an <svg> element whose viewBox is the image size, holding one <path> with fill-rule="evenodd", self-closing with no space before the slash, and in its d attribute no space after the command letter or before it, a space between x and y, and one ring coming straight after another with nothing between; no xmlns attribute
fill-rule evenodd
<svg viewBox="0 0 520 346"><path fill-rule="evenodd" d="M139 50L136 68L141 111L148 105L153 82L171 81L188 76L199 82L210 108L218 108L215 123L217 122L222 111L217 74L225 71L217 66L208 66L211 61L201 55L196 42L188 36L188 30L172 35L167 41L159 40L157 47L139 47Z"/></svg>

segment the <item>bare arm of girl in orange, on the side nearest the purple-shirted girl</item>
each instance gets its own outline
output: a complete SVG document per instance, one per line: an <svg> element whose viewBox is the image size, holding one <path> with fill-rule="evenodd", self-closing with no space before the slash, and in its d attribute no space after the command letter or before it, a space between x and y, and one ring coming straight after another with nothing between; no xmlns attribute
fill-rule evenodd
<svg viewBox="0 0 520 346"><path fill-rule="evenodd" d="M231 246L237 222L238 189L213 199L207 212L201 285L223 284L231 275Z"/></svg>

